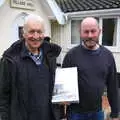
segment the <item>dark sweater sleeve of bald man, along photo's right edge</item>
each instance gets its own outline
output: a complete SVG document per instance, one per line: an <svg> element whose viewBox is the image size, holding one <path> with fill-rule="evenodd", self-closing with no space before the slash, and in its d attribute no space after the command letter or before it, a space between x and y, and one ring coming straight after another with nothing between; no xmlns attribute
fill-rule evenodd
<svg viewBox="0 0 120 120"><path fill-rule="evenodd" d="M107 94L109 104L111 106L111 117L118 117L118 80L116 78L116 65L114 58L111 59L111 64L109 66L109 73L107 77Z"/></svg>

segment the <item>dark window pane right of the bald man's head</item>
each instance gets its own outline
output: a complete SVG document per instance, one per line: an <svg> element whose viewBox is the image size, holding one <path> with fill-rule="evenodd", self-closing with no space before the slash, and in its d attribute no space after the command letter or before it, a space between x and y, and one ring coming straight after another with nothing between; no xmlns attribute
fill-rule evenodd
<svg viewBox="0 0 120 120"><path fill-rule="evenodd" d="M106 18L102 21L102 45L116 46L117 18Z"/></svg>

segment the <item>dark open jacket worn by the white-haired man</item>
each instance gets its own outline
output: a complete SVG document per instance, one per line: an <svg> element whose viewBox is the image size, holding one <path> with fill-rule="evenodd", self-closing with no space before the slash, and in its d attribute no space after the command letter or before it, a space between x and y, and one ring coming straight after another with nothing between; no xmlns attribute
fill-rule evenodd
<svg viewBox="0 0 120 120"><path fill-rule="evenodd" d="M52 90L54 86L54 73L56 68L56 57L60 54L61 48L58 45L44 42L42 44L44 65L50 72L50 81L48 83L49 92L45 94L45 102L41 105L46 106L49 101L51 115L42 116L40 120L54 120L52 111ZM27 105L28 83L31 75L34 74L36 66L30 56L25 52L24 40L15 42L8 48L0 62L0 116L2 120L28 120ZM45 75L45 74L44 74ZM36 76L37 77L37 76ZM42 81L44 85L44 81ZM43 93L42 93L43 92ZM44 90L41 91L44 94ZM41 108L41 111L47 111L47 108ZM45 117L45 119L44 119Z"/></svg>

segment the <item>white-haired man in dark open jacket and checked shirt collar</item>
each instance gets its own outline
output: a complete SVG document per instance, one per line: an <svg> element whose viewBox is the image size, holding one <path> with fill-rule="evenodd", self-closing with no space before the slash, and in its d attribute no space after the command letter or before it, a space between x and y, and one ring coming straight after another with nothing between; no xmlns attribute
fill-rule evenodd
<svg viewBox="0 0 120 120"><path fill-rule="evenodd" d="M8 48L0 62L1 120L54 120L51 107L56 57L61 48L44 42L44 22L28 15L24 40Z"/></svg>

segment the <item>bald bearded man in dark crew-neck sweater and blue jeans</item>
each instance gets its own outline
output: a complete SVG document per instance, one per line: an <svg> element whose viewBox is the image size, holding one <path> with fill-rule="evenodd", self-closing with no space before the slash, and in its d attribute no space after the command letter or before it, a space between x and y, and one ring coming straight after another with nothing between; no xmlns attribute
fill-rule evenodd
<svg viewBox="0 0 120 120"><path fill-rule="evenodd" d="M68 120L104 120L102 95L107 86L111 118L118 120L118 83L112 53L99 45L100 28L93 17L81 22L81 44L64 58L63 67L78 68L79 104L68 107Z"/></svg>

